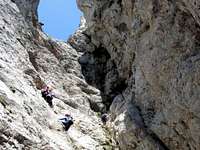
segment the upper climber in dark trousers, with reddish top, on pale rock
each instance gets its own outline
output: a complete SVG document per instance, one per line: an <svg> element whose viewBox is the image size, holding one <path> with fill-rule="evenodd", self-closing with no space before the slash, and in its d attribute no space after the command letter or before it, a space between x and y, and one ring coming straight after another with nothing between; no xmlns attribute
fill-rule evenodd
<svg viewBox="0 0 200 150"><path fill-rule="evenodd" d="M53 107L53 97L55 97L54 93L52 92L52 88L50 86L45 86L41 90L42 97L46 100L50 107Z"/></svg>

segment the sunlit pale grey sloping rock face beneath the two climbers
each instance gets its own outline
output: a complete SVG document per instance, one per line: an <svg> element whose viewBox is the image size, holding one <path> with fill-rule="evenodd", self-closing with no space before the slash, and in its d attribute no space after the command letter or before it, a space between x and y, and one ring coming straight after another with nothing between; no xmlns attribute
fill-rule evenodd
<svg viewBox="0 0 200 150"><path fill-rule="evenodd" d="M82 54L40 30L38 3L0 1L0 149L112 149L93 111L104 104L100 91L84 80ZM46 84L56 95L53 108L40 94ZM75 119L68 132L58 122L66 113Z"/></svg>

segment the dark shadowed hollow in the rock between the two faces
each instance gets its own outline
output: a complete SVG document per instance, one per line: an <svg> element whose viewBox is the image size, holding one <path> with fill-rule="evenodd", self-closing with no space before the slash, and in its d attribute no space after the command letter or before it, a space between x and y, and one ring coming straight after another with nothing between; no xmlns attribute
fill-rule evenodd
<svg viewBox="0 0 200 150"><path fill-rule="evenodd" d="M100 46L92 53L86 52L79 59L79 63L86 82L101 91L102 102L105 105L103 111L109 111L114 97L121 94L127 84L119 77L108 50Z"/></svg>

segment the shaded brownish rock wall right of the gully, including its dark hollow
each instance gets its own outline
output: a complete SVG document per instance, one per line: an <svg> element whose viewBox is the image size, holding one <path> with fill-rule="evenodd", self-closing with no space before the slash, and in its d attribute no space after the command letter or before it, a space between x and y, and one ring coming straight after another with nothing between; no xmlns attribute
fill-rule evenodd
<svg viewBox="0 0 200 150"><path fill-rule="evenodd" d="M200 2L77 2L86 27L76 35L87 38L79 62L121 149L199 149Z"/></svg>

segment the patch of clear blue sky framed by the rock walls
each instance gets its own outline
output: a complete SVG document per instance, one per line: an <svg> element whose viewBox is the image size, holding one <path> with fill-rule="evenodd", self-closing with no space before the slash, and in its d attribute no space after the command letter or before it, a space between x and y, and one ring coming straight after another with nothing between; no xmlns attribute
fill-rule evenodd
<svg viewBox="0 0 200 150"><path fill-rule="evenodd" d="M40 0L38 15L45 33L66 41L79 26L82 13L76 0Z"/></svg>

